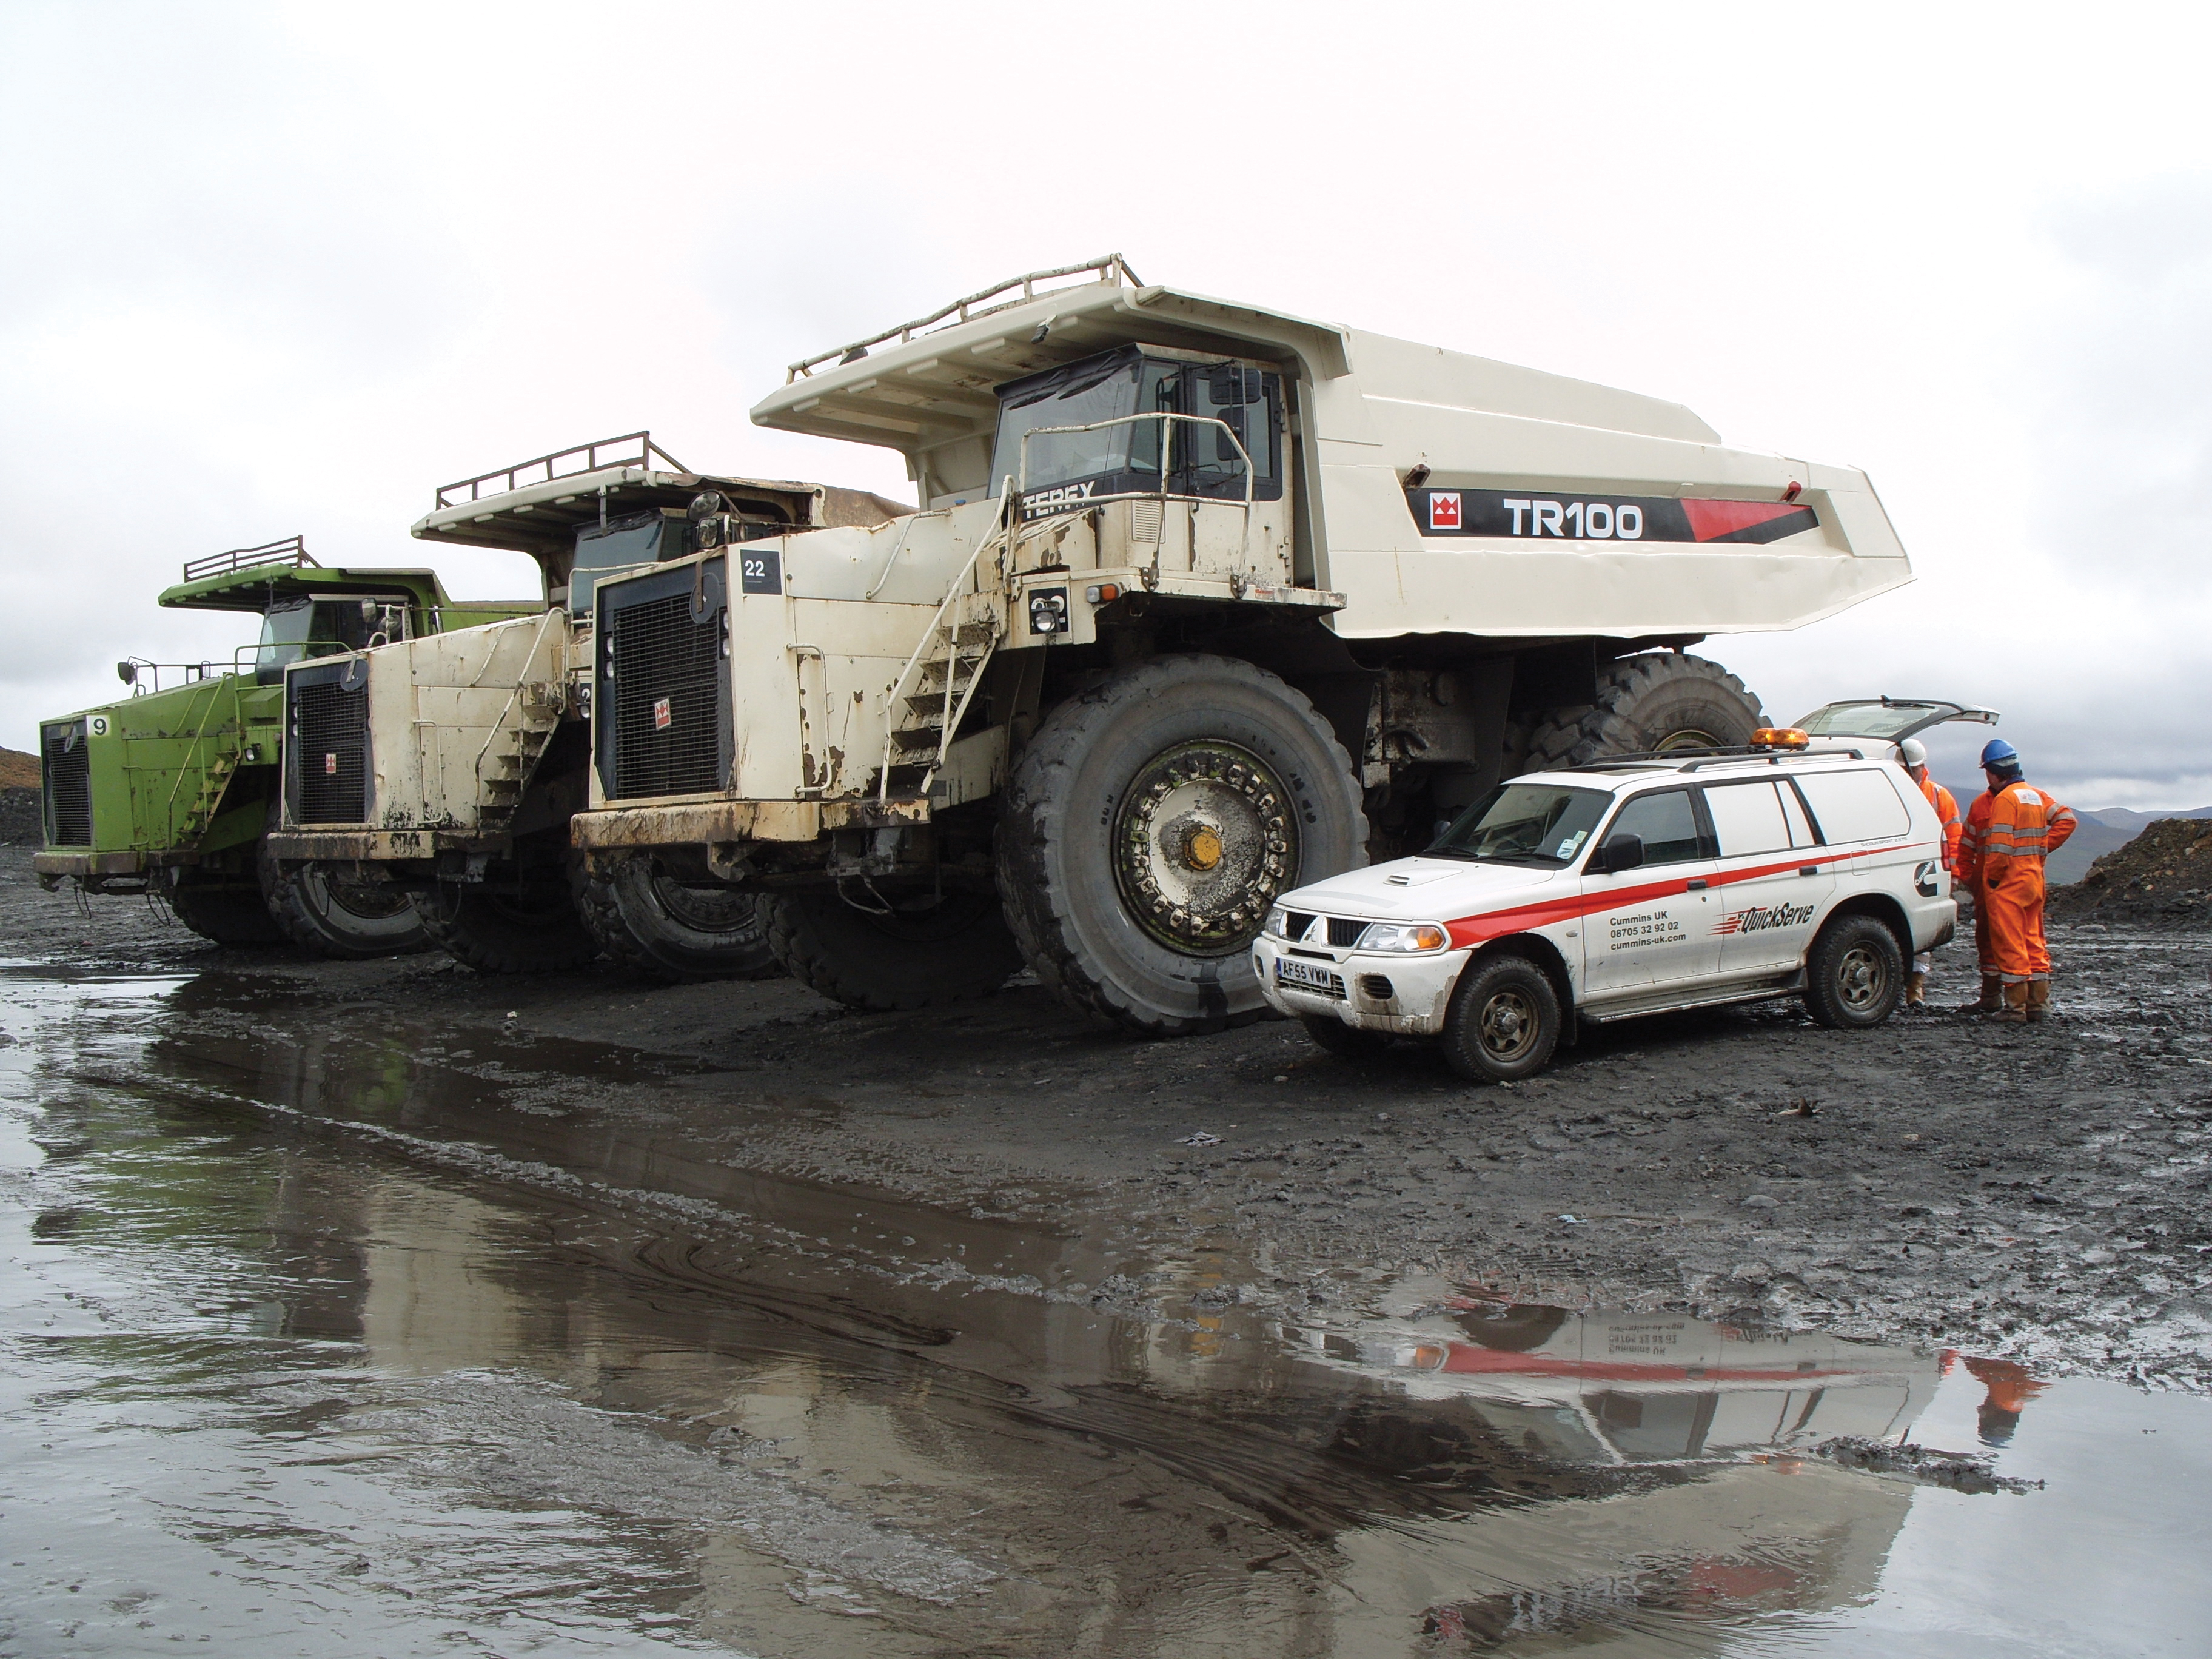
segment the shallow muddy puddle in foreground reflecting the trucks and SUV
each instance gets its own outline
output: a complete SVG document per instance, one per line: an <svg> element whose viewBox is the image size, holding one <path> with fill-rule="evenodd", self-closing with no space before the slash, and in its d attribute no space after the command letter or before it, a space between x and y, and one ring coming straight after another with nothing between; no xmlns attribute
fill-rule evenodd
<svg viewBox="0 0 2212 1659"><path fill-rule="evenodd" d="M1995 1535L1980 1639L2205 1606L2188 1526L2126 1608L2037 1571L2183 1513L2201 1402L1411 1279L1285 1325L1232 1241L768 1177L695 1066L212 975L0 1029L0 1652L1909 1650ZM1907 1440L2051 1486L1823 1455Z"/></svg>

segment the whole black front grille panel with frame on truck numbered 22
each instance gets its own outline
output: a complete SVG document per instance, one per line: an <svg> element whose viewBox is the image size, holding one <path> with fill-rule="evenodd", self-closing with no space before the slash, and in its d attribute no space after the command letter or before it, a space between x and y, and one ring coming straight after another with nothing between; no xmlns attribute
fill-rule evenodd
<svg viewBox="0 0 2212 1659"><path fill-rule="evenodd" d="M730 783L726 560L602 584L599 779L608 796L708 794Z"/></svg>

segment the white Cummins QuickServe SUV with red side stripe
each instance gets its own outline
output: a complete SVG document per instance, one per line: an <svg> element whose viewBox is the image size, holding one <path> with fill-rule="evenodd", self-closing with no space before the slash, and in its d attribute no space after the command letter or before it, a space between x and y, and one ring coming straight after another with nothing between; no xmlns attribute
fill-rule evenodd
<svg viewBox="0 0 2212 1659"><path fill-rule="evenodd" d="M1283 896L1252 967L1323 1048L1440 1037L1478 1082L1540 1071L1577 1018L1803 995L1874 1026L1905 958L1958 925L1940 843L1927 796L1863 750L1531 772L1425 854Z"/></svg>

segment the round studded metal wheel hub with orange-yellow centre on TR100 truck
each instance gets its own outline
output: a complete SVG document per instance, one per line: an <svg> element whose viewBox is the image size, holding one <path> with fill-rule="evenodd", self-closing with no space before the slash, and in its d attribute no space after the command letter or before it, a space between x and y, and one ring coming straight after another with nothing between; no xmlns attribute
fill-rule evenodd
<svg viewBox="0 0 2212 1659"><path fill-rule="evenodd" d="M1186 956L1241 949L1298 867L1290 792L1250 750L1155 754L1113 827L1115 883L1146 933Z"/></svg>

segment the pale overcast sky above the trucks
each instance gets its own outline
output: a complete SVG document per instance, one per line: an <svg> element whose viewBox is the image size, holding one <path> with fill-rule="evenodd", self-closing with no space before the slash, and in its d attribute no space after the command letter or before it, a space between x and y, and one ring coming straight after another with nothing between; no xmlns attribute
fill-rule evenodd
<svg viewBox="0 0 2212 1659"><path fill-rule="evenodd" d="M199 553L533 593L407 524L584 438L911 500L745 409L1121 250L1865 467L1920 582L1705 655L1778 719L1982 701L2077 805L2212 805L2201 18L7 0L0 743L228 657L153 606Z"/></svg>

